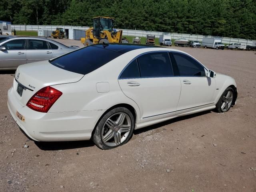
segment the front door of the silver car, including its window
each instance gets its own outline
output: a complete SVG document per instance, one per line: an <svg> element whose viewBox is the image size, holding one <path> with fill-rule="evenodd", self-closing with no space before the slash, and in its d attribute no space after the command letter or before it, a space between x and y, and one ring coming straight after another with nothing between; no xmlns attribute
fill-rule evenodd
<svg viewBox="0 0 256 192"><path fill-rule="evenodd" d="M0 51L0 68L15 69L19 65L26 64L26 40L10 40L1 46L6 50Z"/></svg>

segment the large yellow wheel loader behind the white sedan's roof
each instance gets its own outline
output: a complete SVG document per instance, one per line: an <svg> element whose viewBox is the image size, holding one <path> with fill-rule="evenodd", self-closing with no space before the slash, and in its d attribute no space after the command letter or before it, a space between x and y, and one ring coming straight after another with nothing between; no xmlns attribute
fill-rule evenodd
<svg viewBox="0 0 256 192"><path fill-rule="evenodd" d="M114 18L111 17L94 17L93 27L85 32L85 38L81 38L84 46L98 43L128 43L122 40L122 30L113 30Z"/></svg>

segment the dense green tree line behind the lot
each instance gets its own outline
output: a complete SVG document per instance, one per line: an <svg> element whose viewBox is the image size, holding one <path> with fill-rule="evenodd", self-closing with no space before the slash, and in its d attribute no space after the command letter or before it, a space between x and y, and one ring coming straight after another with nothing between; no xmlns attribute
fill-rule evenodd
<svg viewBox="0 0 256 192"><path fill-rule="evenodd" d="M114 27L256 40L256 0L1 0L0 20L12 24Z"/></svg>

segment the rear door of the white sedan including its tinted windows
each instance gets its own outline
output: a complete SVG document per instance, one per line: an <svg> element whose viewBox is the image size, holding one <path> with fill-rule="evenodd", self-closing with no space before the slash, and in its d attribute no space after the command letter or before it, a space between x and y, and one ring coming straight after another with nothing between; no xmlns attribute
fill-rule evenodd
<svg viewBox="0 0 256 192"><path fill-rule="evenodd" d="M124 94L138 104L140 122L175 114L181 85L173 76L168 52L139 56L124 69L118 82Z"/></svg>

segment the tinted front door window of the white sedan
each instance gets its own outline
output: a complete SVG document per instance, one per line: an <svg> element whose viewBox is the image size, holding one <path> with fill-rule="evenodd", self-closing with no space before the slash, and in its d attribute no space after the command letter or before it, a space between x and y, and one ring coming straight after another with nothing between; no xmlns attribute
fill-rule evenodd
<svg viewBox="0 0 256 192"><path fill-rule="evenodd" d="M172 53L180 76L206 76L204 67L190 56ZM175 67L174 67L175 68Z"/></svg>

